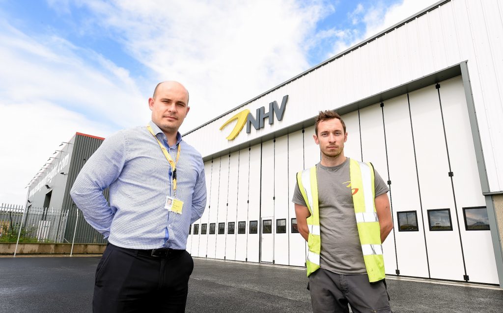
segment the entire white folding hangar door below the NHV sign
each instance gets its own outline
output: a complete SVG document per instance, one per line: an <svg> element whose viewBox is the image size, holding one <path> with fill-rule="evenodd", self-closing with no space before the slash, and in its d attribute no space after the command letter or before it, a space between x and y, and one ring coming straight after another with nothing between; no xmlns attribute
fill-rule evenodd
<svg viewBox="0 0 503 313"><path fill-rule="evenodd" d="M466 140L471 130L464 87L461 77L439 85L439 89L435 85L427 86L385 101L383 107L377 103L343 116L348 121L348 132L361 129L361 140L358 132L358 135L348 136L346 146L355 140L360 147L353 145L353 153L359 155L362 149L364 161L372 162L385 182L391 181L388 195L394 231L382 246L387 274L395 274L398 269L400 275L405 276L463 280L466 273L470 281L497 284L490 232L464 228L463 208L485 205L474 148L471 141ZM306 128L305 132L278 137L276 142L264 142L262 147L254 145L250 151L248 148L236 151L230 160L228 155L223 155L213 163L205 163L211 209L207 209L202 221L196 223L208 223L208 217L217 212L214 209L216 200L228 199L229 206L220 206L223 210L218 210L218 222L223 221L221 216L227 217L226 231L228 222L236 222L236 240L226 241L226 259L304 264L305 241L300 234L291 233L295 210L290 200L296 172L319 162L319 147L314 143L313 133L314 126ZM454 173L452 184L449 171ZM224 197L227 188L229 192ZM449 210L452 230L430 230L428 211L432 209ZM397 213L404 211L416 213L417 231L399 231ZM287 219L288 233L277 234L276 220L283 218ZM271 219L273 228L267 238L260 236L264 219ZM216 215L209 220L216 222ZM246 222L245 234L237 234L239 221ZM249 234L250 221L257 221L258 234ZM199 256L223 258L218 253L218 241L207 244L203 239L223 235L192 236L193 255L197 256L195 247L199 237ZM282 237L288 240L283 241ZM262 251L259 243L262 243ZM234 254L229 252L232 250Z"/></svg>

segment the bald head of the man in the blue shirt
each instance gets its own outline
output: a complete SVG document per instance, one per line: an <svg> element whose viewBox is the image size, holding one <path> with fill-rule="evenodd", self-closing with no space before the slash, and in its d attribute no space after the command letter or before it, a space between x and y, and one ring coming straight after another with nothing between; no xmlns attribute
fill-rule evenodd
<svg viewBox="0 0 503 313"><path fill-rule="evenodd" d="M157 87L155 98L148 99L152 121L168 133L176 133L187 116L189 94L177 82L164 82Z"/></svg>

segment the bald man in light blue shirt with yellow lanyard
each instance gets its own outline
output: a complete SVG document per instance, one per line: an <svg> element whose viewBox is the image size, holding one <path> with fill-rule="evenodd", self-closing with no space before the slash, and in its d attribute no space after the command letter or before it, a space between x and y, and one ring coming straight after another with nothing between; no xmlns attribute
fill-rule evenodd
<svg viewBox="0 0 503 313"><path fill-rule="evenodd" d="M94 312L185 311L194 268L187 237L206 206L201 154L178 132L188 103L182 84L159 83L148 125L107 138L73 184L73 201L109 241L96 270Z"/></svg>

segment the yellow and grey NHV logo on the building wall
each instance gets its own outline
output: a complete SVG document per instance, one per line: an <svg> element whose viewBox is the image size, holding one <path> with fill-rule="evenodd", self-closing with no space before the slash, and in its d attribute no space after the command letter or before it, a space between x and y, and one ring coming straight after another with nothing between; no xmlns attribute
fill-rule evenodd
<svg viewBox="0 0 503 313"><path fill-rule="evenodd" d="M288 102L288 95L283 97L283 100L281 101L281 106L278 107L278 102L273 101L269 103L269 112L265 112L266 108L261 107L257 109L257 113L255 114L257 117L254 117L253 114L250 113L250 110L244 109L241 112L237 113L236 115L232 116L229 118L228 121L226 121L221 127L220 130L222 130L227 124L232 122L233 120L237 119L237 123L234 126L234 129L230 132L230 134L227 136L227 140L233 140L243 129L244 124L246 124L246 132L250 133L251 132L251 126L255 129L260 129L264 127L264 119L269 118L269 124L274 124L274 115L276 115L276 119L279 121L283 119L283 115L285 115L285 107L286 103Z"/></svg>

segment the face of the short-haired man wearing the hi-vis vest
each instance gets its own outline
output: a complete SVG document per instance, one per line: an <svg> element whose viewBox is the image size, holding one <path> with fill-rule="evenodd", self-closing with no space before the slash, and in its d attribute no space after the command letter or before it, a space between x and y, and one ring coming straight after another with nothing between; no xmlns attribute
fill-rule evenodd
<svg viewBox="0 0 503 313"><path fill-rule="evenodd" d="M321 153L330 158L337 158L344 150L344 142L348 133L338 118L324 120L318 123L318 135L313 135L316 144L319 144Z"/></svg>

